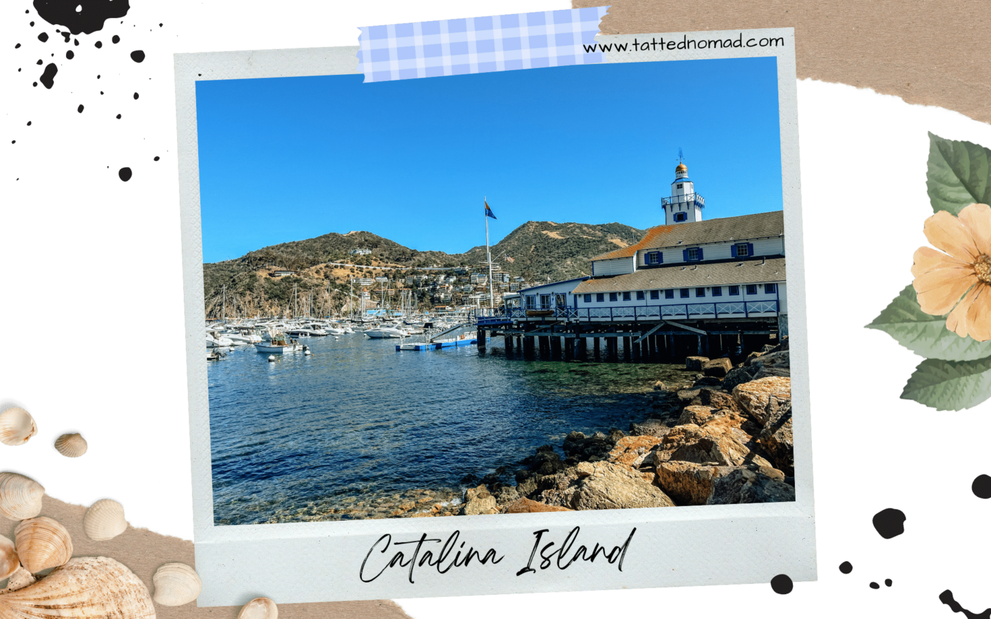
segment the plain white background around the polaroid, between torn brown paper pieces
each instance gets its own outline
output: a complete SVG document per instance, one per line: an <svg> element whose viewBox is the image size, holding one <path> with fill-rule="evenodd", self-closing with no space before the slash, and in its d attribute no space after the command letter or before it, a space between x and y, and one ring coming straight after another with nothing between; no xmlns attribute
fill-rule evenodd
<svg viewBox="0 0 991 619"><path fill-rule="evenodd" d="M4 8L10 142L0 397L24 402L41 435L0 450L0 466L29 472L65 498L112 496L132 521L191 536L171 52L355 45L358 26L564 7L328 13L326 5L135 4L77 34L78 46L55 32L78 18L75 6L99 16L115 2L126 5L77 0L62 10L67 18L43 10L51 21L25 3ZM52 62L58 71L48 88L40 76ZM610 113L601 110L604 128ZM912 251L925 243L926 132L991 145L991 130L840 86L800 85L799 116L819 582L797 583L787 595L751 585L497 596L482 615L533 604L572 614L595 602L619 613L685 605L778 616L974 616L942 605L945 589L964 607L987 606L989 501L971 483L991 472L991 404L954 414L900 400L919 360L862 325L909 283ZM133 174L127 182L124 166ZM801 276L796 263L789 279ZM81 460L49 446L68 427L90 442ZM892 507L907 515L906 531L884 540L872 517ZM837 569L844 561L849 574ZM885 578L890 587L869 588ZM429 618L480 612L475 598L402 601Z"/></svg>

